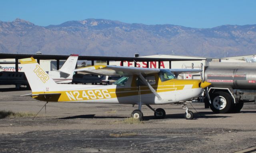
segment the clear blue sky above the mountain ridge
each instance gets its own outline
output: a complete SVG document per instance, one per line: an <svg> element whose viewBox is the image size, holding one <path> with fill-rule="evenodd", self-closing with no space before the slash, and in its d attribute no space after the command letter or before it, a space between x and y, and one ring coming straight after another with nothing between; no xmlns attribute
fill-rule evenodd
<svg viewBox="0 0 256 153"><path fill-rule="evenodd" d="M256 0L0 0L0 21L39 26L88 18L211 28L256 24Z"/></svg>

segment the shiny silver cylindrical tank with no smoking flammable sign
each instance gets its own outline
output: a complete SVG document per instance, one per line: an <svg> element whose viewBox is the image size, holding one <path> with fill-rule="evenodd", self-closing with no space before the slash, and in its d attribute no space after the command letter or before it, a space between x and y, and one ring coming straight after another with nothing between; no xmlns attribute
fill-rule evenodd
<svg viewBox="0 0 256 153"><path fill-rule="evenodd" d="M218 66L216 66L218 65ZM204 78L212 87L256 89L255 63L218 63L205 68Z"/></svg>

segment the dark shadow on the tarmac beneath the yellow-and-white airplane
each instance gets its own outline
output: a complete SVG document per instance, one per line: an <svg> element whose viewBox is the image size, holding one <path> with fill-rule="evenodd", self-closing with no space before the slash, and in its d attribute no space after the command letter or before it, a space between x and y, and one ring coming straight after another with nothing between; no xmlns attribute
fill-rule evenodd
<svg viewBox="0 0 256 153"><path fill-rule="evenodd" d="M130 116L95 116L95 114L68 116L63 118L53 118L53 120L69 120L69 119L90 119L90 118L128 118ZM198 118L230 118L231 116L216 116L213 112L199 112L194 113L194 120ZM184 119L184 114L166 114L164 119ZM158 120L154 116L143 116L144 121Z"/></svg>

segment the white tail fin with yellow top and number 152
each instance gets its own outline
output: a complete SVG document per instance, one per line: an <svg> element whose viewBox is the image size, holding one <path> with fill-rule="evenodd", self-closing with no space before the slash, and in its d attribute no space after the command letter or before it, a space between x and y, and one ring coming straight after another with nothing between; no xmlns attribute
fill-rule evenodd
<svg viewBox="0 0 256 153"><path fill-rule="evenodd" d="M54 80L48 76L33 57L20 59L19 61L21 64L24 64L24 73L32 92L45 92L49 88L56 87Z"/></svg>

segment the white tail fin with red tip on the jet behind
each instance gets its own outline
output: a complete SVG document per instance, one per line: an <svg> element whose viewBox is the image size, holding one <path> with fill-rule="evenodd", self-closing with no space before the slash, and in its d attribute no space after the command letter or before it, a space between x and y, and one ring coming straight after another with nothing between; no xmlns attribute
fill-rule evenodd
<svg viewBox="0 0 256 153"><path fill-rule="evenodd" d="M77 54L72 54L68 57L64 65L59 69L60 72L69 74L68 77L73 77L74 69L76 68L76 62L78 59Z"/></svg>

